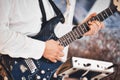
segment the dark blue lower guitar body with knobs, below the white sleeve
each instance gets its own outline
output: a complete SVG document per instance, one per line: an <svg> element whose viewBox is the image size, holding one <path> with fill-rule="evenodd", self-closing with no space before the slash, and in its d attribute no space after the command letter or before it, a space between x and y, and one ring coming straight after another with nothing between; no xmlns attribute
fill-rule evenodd
<svg viewBox="0 0 120 80"><path fill-rule="evenodd" d="M26 63L26 60L32 61L32 63ZM45 58L39 60L35 59L16 59L15 64L12 65L12 75L14 80L60 80L59 78L53 78L53 74L56 69L62 64L62 62L53 63ZM34 63L34 64L33 64ZM34 67L35 66L35 67ZM30 67L34 67L33 69Z"/></svg>

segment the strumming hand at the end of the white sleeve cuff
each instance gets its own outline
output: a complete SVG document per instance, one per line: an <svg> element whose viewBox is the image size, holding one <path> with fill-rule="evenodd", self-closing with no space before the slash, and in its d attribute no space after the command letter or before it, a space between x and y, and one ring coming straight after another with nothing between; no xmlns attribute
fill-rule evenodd
<svg viewBox="0 0 120 80"><path fill-rule="evenodd" d="M63 49L64 47L59 45L59 42L48 40L46 41L43 57L52 62L61 61L61 57L64 56Z"/></svg>

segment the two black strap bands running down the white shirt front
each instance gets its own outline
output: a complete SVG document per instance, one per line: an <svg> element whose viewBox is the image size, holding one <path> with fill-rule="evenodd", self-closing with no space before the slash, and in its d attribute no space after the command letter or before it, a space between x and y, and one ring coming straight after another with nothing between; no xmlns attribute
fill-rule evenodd
<svg viewBox="0 0 120 80"><path fill-rule="evenodd" d="M61 23L64 23L65 19L64 19L64 16L62 14L62 12L58 9L58 7L55 5L55 3L52 1L52 0L49 0L53 10L55 11L56 13L56 16L60 18L60 22ZM40 9L41 9L41 13L42 13L42 22L43 24L45 24L47 22L47 19L46 19L46 13L45 13L45 9L44 9L44 5L43 5L43 1L42 0L39 0L39 6L40 6ZM41 29L43 29L44 26L42 26Z"/></svg>

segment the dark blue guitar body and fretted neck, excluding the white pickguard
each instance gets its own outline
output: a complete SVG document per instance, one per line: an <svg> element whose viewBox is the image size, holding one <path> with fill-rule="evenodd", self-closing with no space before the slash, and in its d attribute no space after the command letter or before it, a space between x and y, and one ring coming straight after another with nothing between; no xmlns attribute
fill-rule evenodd
<svg viewBox="0 0 120 80"><path fill-rule="evenodd" d="M75 41L76 39L79 39L84 33L89 31L89 21L103 21L109 16L113 15L116 11L120 11L120 1L118 0L114 0L113 6L110 6L109 8L105 9L95 17L90 18L85 23L78 25L75 29L73 29L72 31L68 32L60 38L57 38L54 34L54 28L57 24L56 18L52 19L51 22L46 24L46 26L40 32L39 39L43 41L46 41L48 39L55 39L59 41L62 46L66 47L68 44ZM53 63L45 59L44 57L38 60L32 58L17 58L13 59L11 74L13 80L61 80L61 77L53 78L56 69L61 64L62 62L60 61L58 61L57 63Z"/></svg>

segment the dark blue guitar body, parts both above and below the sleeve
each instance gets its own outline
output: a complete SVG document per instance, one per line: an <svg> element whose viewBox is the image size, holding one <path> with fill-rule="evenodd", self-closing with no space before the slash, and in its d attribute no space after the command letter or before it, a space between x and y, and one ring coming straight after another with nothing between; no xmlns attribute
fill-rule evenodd
<svg viewBox="0 0 120 80"><path fill-rule="evenodd" d="M55 36L54 28L56 24L60 22L59 17L54 17L50 21L43 24L41 32L32 37L34 39L46 41L49 39L57 40ZM44 57L39 60L35 59L14 59L14 64L12 65L12 75L14 80L61 80L61 77L53 78L53 74L56 69L62 64L58 61L53 63Z"/></svg>

